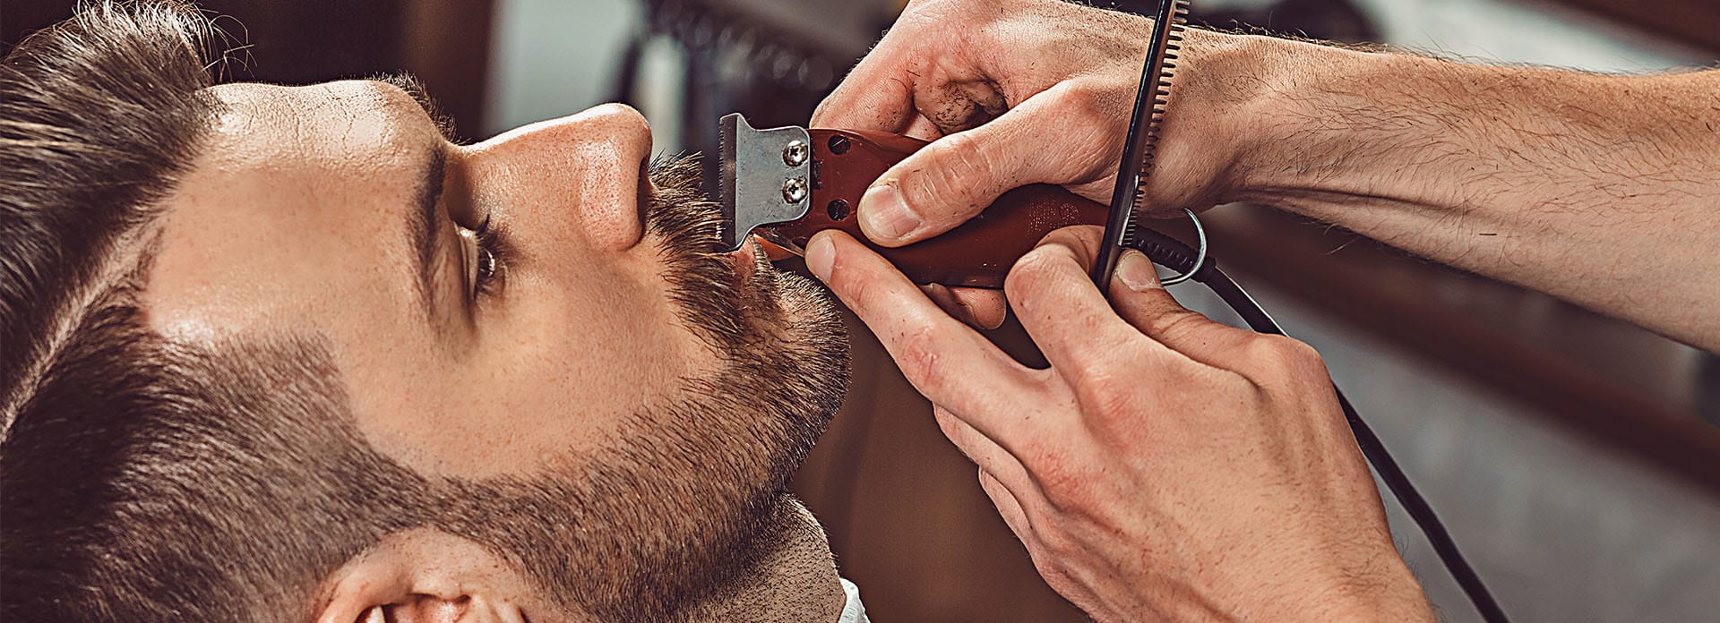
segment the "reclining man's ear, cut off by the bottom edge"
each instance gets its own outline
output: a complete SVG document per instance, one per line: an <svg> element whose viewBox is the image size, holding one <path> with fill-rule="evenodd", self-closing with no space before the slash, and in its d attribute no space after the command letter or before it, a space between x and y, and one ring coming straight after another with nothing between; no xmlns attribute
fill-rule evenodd
<svg viewBox="0 0 1720 623"><path fill-rule="evenodd" d="M399 534L329 578L316 623L523 621L511 599L451 549L447 534ZM451 559L452 558L452 559Z"/></svg>

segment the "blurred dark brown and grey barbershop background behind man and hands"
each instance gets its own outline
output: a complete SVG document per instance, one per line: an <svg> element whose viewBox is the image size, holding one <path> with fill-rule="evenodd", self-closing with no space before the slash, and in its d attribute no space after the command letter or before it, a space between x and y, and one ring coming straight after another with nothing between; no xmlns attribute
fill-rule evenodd
<svg viewBox="0 0 1720 623"><path fill-rule="evenodd" d="M716 120L733 110L759 127L805 124L901 10L898 0L203 5L229 15L222 26L243 46L225 65L232 79L406 69L475 139L628 102L650 117L666 153L714 151ZM69 14L65 0L3 0L0 45ZM1197 2L1194 17L1476 62L1643 72L1720 59L1720 2L1706 0L1214 0ZM1713 356L1305 219L1232 205L1207 222L1214 253L1292 336L1319 348L1508 613L1720 618ZM1230 318L1199 286L1173 293ZM1034 573L925 399L850 325L855 386L796 489L870 616L1082 620ZM1034 356L1018 327L994 337ZM1452 621L1476 620L1421 534L1388 506L1434 604Z"/></svg>

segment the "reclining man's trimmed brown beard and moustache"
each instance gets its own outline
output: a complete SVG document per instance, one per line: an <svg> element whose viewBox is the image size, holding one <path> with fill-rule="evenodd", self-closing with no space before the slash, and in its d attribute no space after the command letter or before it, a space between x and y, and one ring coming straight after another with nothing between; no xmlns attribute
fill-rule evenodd
<svg viewBox="0 0 1720 623"><path fill-rule="evenodd" d="M439 521L511 558L550 602L612 621L674 620L743 580L848 389L846 330L822 289L762 253L736 279L697 160L657 160L650 179L645 220L674 306L721 370L547 477L444 482Z"/></svg>

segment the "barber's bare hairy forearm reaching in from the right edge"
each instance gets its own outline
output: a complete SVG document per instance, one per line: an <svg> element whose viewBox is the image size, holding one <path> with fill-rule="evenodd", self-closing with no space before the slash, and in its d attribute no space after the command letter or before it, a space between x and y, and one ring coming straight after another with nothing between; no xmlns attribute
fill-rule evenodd
<svg viewBox="0 0 1720 623"><path fill-rule="evenodd" d="M1720 72L1256 41L1233 194L1720 349Z"/></svg>

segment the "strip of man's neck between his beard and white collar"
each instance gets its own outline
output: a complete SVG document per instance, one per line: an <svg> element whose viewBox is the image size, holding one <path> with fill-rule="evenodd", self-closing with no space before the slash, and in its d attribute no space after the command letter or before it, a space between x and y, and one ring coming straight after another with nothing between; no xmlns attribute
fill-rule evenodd
<svg viewBox="0 0 1720 623"><path fill-rule="evenodd" d="M824 528L784 494L776 521L759 535L759 563L693 608L686 621L836 621L846 595Z"/></svg>

